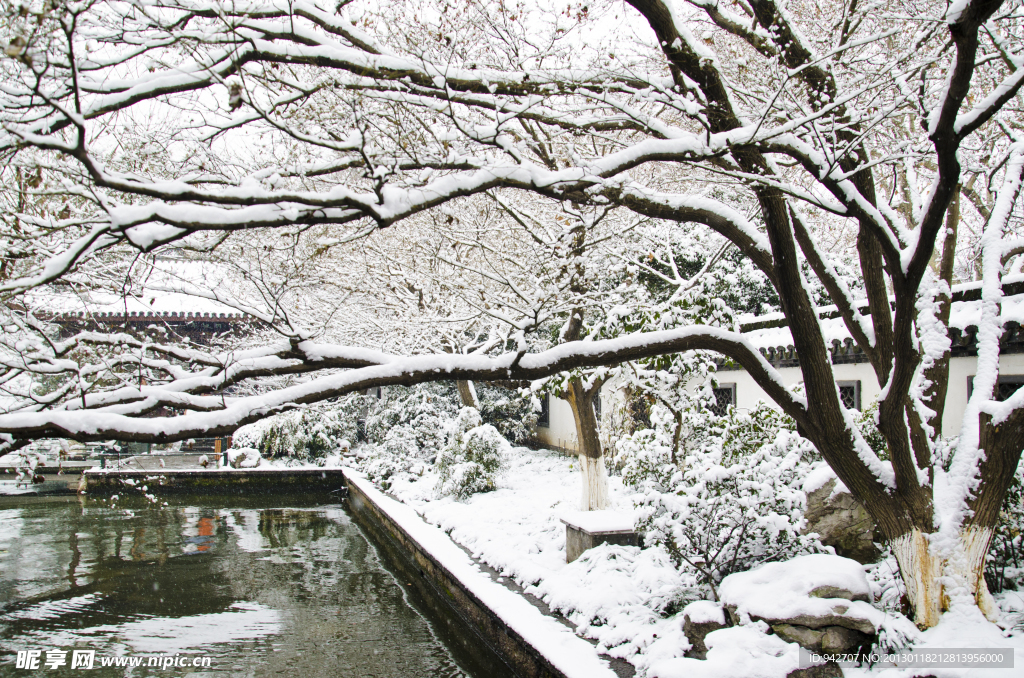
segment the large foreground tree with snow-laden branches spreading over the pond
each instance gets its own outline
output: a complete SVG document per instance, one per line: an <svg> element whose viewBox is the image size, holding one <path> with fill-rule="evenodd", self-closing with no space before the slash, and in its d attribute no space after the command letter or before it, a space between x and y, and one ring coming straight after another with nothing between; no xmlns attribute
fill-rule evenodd
<svg viewBox="0 0 1024 678"><path fill-rule="evenodd" d="M1001 281L1024 252L1019 0L10 7L6 446L184 439L370 386L712 350L863 501L919 624L962 602L992 611L982 566L1024 448L1024 390L995 397ZM34 302L139 253L244 246L260 229L341 251L489 190L717 231L777 293L804 394L735 329L708 325L538 353L516 332L475 353L399 354L303 328L227 350L60 337ZM961 430L940 431L956 276L983 281L978 374ZM884 384L888 459L839 397L822 290ZM141 417L165 407L180 414ZM957 436L951 459L942 434Z"/></svg>

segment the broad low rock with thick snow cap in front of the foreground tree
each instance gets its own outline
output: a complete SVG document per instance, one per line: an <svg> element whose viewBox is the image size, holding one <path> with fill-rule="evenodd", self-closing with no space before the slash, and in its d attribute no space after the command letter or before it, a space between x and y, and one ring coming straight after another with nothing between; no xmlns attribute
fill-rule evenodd
<svg viewBox="0 0 1024 678"><path fill-rule="evenodd" d="M868 602L860 564L841 556L806 555L730 575L719 596L733 624L763 620L779 638L818 651L869 644L884 621Z"/></svg>

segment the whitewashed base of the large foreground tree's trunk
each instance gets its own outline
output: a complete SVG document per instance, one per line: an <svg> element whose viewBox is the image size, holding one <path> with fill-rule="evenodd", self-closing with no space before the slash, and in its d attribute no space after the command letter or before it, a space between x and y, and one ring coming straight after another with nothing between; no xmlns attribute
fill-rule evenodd
<svg viewBox="0 0 1024 678"><path fill-rule="evenodd" d="M918 626L935 626L942 612L957 603L977 605L989 620L997 619L984 576L992 531L968 527L949 554L938 553L929 537L914 529L891 544Z"/></svg>

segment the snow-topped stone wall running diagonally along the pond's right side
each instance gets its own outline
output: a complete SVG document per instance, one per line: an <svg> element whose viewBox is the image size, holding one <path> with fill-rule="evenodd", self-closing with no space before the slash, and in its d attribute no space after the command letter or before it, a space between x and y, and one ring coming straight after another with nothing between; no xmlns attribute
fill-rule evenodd
<svg viewBox="0 0 1024 678"><path fill-rule="evenodd" d="M591 643L494 582L439 527L345 469L352 514L385 549L419 570L424 596L443 600L479 640L523 678L614 678ZM404 557L402 557L404 556Z"/></svg>

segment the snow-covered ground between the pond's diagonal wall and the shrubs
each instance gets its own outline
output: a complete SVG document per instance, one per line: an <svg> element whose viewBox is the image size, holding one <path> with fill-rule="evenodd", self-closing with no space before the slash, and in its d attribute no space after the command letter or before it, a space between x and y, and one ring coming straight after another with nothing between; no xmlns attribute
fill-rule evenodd
<svg viewBox="0 0 1024 678"><path fill-rule="evenodd" d="M333 464L332 464L333 465ZM601 545L565 563L565 527L559 518L577 510L578 463L549 452L516 448L495 492L466 501L438 499L432 471L392 477L389 493L437 525L504 578L524 587L597 641L598 649L624 659L643 678L709 675L716 678L782 678L797 668L798 648L767 625L755 622L708 637L708 661L685 659L690 644L683 634L684 582L659 548ZM422 468L422 467L421 467ZM612 509L633 513L633 498L617 477L609 479ZM828 556L825 556L828 557ZM863 568L877 601L883 637L890 643L928 648L1005 647L1015 652L1017 669L846 669L847 676L910 678L934 675L1009 678L1024 668L1024 595L1005 593L999 602L1016 629L1001 630L979 617L947 613L926 633L894 611L898 604L895 564ZM848 577L848 574L845 575ZM1011 626L1007 625L1007 626Z"/></svg>

